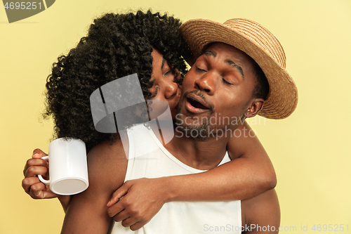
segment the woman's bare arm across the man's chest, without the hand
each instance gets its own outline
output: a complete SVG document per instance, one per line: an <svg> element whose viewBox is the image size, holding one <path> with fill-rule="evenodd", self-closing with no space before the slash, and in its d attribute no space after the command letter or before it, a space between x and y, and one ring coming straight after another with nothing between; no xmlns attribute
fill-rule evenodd
<svg viewBox="0 0 351 234"><path fill-rule="evenodd" d="M169 178L169 200L244 200L275 187L270 157L257 136L249 136L249 124L244 122L237 130L239 137L232 136L227 144L232 161L200 174Z"/></svg>

